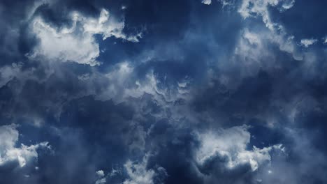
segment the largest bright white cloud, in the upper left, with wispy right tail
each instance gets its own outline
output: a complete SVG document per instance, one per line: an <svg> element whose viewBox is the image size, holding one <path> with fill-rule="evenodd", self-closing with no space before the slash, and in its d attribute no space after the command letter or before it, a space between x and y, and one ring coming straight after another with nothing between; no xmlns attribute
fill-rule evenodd
<svg viewBox="0 0 327 184"><path fill-rule="evenodd" d="M122 33L124 22L110 17L108 10L101 10L99 18L84 17L78 12L71 13L73 25L57 28L45 22L42 17L32 21L32 31L40 43L29 54L30 57L44 56L50 60L74 61L90 66L99 65L99 44L94 35L100 34L105 40L114 36L132 42L138 42L137 36L126 36Z"/></svg>

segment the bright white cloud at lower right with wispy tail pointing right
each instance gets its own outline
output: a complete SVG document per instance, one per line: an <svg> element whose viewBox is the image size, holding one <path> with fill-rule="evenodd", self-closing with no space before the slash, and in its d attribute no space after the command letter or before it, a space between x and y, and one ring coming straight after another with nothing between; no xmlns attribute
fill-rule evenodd
<svg viewBox="0 0 327 184"><path fill-rule="evenodd" d="M270 151L277 149L283 151L282 145L269 146L247 150L250 133L247 126L233 127L218 132L205 132L199 134L201 147L196 152L196 161L203 165L208 160L221 157L227 158L225 167L233 169L243 164L249 164L252 171L259 169L261 164L270 162Z"/></svg>

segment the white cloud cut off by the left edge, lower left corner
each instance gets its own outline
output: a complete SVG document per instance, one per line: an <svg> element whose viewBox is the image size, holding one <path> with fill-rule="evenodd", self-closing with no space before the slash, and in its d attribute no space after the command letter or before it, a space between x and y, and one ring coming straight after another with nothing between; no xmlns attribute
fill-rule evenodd
<svg viewBox="0 0 327 184"><path fill-rule="evenodd" d="M41 142L31 146L21 144L20 147L15 147L18 141L19 133L17 125L0 126L0 166L7 162L17 161L20 167L24 167L31 160L38 158L38 148L50 148L48 142Z"/></svg>

